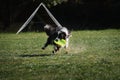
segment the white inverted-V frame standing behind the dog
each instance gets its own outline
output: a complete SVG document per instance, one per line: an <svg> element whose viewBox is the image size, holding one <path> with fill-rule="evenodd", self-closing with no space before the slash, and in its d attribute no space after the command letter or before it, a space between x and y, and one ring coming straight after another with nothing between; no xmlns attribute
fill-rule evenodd
<svg viewBox="0 0 120 80"><path fill-rule="evenodd" d="M46 10L46 12L48 13L48 15L50 16L50 18L54 21L54 23L58 26L58 27L62 27L62 25L55 19L55 17L51 14L51 12L47 9L47 7L43 4L40 3L39 6L35 9L35 11L30 15L30 17L26 20L26 22L20 27L20 29L17 31L16 34L19 34L28 24L29 22L32 20L32 18L35 16L35 14L37 13L37 11L39 10L39 8L43 6L44 9Z"/></svg>

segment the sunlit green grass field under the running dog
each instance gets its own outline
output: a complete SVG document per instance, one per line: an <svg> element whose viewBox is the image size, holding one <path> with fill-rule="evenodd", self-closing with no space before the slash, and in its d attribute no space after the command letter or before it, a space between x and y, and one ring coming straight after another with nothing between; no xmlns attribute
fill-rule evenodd
<svg viewBox="0 0 120 80"><path fill-rule="evenodd" d="M45 33L0 34L0 80L120 80L120 30L73 31L68 54Z"/></svg>

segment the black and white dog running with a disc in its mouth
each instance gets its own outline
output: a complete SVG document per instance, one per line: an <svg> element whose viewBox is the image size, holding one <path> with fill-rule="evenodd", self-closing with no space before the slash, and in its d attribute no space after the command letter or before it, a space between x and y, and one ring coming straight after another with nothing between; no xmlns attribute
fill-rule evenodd
<svg viewBox="0 0 120 80"><path fill-rule="evenodd" d="M42 47L43 50L50 44L54 46L54 50L52 51L53 53L56 53L62 47L66 49L68 48L71 32L66 27L62 27L62 28L54 27L52 25L47 24L44 26L44 30L48 35L48 38L45 45ZM63 39L66 41L64 46L60 46L54 42L55 40L57 41L59 39Z"/></svg>

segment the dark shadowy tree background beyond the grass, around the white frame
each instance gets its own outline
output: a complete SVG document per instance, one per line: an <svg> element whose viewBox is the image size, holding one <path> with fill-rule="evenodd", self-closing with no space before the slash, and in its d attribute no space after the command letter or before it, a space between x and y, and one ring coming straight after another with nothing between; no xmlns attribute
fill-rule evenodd
<svg viewBox="0 0 120 80"><path fill-rule="evenodd" d="M41 2L70 30L120 28L120 0L0 0L0 32L17 32ZM54 23L41 7L24 31L45 24Z"/></svg>

